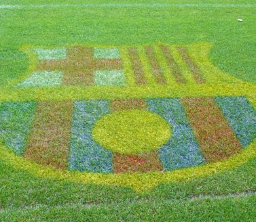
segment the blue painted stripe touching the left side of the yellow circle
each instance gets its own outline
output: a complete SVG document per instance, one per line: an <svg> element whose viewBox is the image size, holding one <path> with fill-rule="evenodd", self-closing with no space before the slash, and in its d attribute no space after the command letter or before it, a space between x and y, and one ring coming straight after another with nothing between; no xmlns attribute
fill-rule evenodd
<svg viewBox="0 0 256 222"><path fill-rule="evenodd" d="M112 154L92 138L94 123L109 112L107 101L74 103L69 169L97 173L112 172Z"/></svg>

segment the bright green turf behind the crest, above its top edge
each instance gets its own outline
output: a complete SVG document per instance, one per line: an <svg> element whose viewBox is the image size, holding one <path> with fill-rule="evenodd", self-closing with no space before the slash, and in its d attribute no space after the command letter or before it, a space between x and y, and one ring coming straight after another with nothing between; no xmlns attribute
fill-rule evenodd
<svg viewBox="0 0 256 222"><path fill-rule="evenodd" d="M19 1L18 4L67 4L73 1ZM109 3L76 1L75 3ZM145 1L128 1L128 3ZM147 1L153 3L155 1ZM161 1L160 1L161 2ZM203 3L204 1L162 1ZM207 1L208 3L209 1ZM127 1L111 1L127 3ZM223 1L211 1L223 3ZM254 1L225 1L225 4ZM0 1L17 5L16 1ZM67 45L73 43L123 45L141 43L213 43L211 60L221 69L256 83L255 7L45 7L0 9L0 85L19 76L27 63L17 49L21 45ZM75 13L75 16L74 16ZM68 18L68 19L67 19ZM244 22L237 22L243 18ZM20 26L22 20L22 26ZM10 58L10 50L15 60ZM23 64L25 63L25 64ZM12 67L10 67L12 66ZM12 76L5 76L10 69Z"/></svg>

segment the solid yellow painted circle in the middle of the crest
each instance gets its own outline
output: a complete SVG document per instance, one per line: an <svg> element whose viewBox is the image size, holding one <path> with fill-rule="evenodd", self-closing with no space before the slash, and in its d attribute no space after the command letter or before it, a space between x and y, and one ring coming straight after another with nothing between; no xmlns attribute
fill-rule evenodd
<svg viewBox="0 0 256 222"><path fill-rule="evenodd" d="M146 110L122 110L100 118L92 131L104 148L120 154L157 150L170 138L170 125Z"/></svg>

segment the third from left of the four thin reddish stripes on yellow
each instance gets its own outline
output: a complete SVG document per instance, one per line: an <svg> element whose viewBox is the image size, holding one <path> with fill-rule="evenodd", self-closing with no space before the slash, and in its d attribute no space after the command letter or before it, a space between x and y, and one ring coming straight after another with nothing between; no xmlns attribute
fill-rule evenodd
<svg viewBox="0 0 256 222"><path fill-rule="evenodd" d="M181 68L179 68L177 62L172 57L172 51L170 51L170 48L168 47L168 45L160 45L160 48L164 53L164 56L168 62L168 66L171 70L171 74L174 77L175 81L177 83L185 83L186 81L181 72Z"/></svg>

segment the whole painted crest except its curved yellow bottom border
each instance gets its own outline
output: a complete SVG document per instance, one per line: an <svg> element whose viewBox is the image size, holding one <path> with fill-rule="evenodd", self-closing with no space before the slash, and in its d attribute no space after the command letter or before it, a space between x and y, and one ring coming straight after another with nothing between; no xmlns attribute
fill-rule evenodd
<svg viewBox="0 0 256 222"><path fill-rule="evenodd" d="M9 95L31 104L26 123L10 123L23 105L2 103L0 140L38 164L98 175L164 175L230 158L255 139L255 109L240 97L254 86L211 64L210 48L26 47L31 65ZM26 90L39 102L26 102Z"/></svg>

